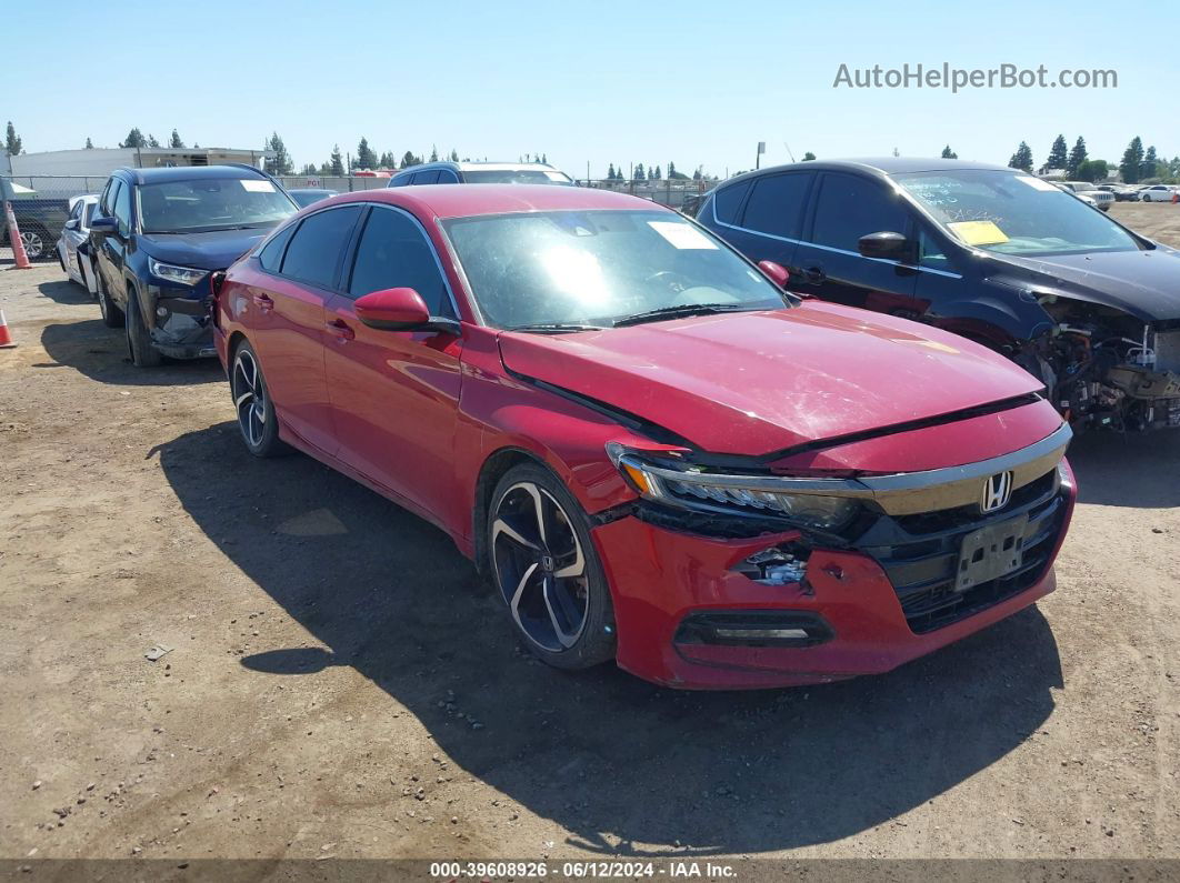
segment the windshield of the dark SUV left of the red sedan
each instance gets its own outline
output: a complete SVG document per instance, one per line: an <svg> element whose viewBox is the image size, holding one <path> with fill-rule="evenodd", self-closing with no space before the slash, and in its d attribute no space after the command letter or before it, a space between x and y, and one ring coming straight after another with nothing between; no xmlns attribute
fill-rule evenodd
<svg viewBox="0 0 1180 883"><path fill-rule="evenodd" d="M145 233L267 228L295 211L290 198L264 178L199 178L139 186Z"/></svg>

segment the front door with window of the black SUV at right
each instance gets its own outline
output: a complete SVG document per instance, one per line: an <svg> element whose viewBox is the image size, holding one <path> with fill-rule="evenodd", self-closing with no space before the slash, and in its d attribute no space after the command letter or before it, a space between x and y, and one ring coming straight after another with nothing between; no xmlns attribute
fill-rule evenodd
<svg viewBox="0 0 1180 883"><path fill-rule="evenodd" d="M916 226L909 204L881 182L843 172L824 172L817 187L791 289L880 312L913 309L917 255L910 262L886 261L861 257L858 248L868 233L912 238Z"/></svg>

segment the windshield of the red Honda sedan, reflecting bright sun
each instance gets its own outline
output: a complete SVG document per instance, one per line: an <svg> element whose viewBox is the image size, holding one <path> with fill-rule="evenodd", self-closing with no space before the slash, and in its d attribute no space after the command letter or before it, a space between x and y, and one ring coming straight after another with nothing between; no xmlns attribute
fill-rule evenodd
<svg viewBox="0 0 1180 883"><path fill-rule="evenodd" d="M612 325L708 304L773 310L781 292L669 211L556 211L457 218L444 228L487 322Z"/></svg>

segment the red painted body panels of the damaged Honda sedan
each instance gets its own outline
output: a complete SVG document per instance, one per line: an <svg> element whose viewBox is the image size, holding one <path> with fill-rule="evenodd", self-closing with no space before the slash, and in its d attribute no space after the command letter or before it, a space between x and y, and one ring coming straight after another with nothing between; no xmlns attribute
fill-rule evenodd
<svg viewBox="0 0 1180 883"><path fill-rule="evenodd" d="M468 556L479 549L481 470L504 452L549 466L586 513L610 516L596 523L592 539L611 586L621 667L702 688L883 672L1053 591L1071 482L1062 492L1068 499L1053 554L1035 581L979 613L916 634L884 569L861 552L817 548L807 585L768 587L732 568L796 532L725 540L641 520L628 510L636 494L604 446L660 446L609 411L531 382L637 415L714 454L765 456L804 446L771 457L767 468L779 474L890 474L998 457L1054 433L1061 419L1043 400L937 422L1035 393L1037 382L1008 360L936 329L814 301L575 335L500 331L477 322L439 219L651 211L653 204L575 187L418 186L334 197L299 217L352 202L396 205L421 223L457 298L460 332L368 328L348 298L278 279L245 257L230 268L217 299L223 365L237 342L249 340L284 441L434 522ZM932 424L887 431L913 421ZM865 431L870 437L813 444ZM776 607L820 613L835 638L806 648L674 644L688 612Z"/></svg>

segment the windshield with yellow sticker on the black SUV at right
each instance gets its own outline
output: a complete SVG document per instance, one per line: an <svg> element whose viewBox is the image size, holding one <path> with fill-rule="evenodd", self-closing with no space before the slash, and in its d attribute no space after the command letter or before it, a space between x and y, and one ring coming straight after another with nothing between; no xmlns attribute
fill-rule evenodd
<svg viewBox="0 0 1180 883"><path fill-rule="evenodd" d="M956 238L1002 255L1135 251L1139 242L1093 206L1030 174L990 170L893 178Z"/></svg>

